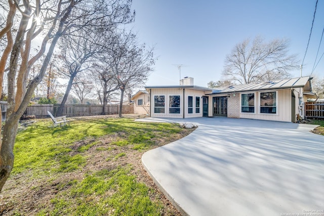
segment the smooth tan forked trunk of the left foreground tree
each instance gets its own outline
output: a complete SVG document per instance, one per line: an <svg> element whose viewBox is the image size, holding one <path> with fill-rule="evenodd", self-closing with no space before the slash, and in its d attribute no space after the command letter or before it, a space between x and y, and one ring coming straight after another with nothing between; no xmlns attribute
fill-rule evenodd
<svg viewBox="0 0 324 216"><path fill-rule="evenodd" d="M0 192L2 191L8 177L11 174L11 171L13 169L13 164L14 164L14 144L15 144L15 139L17 135L17 128L18 128L18 121L20 116L23 114L23 112L26 110L27 105L30 102L30 99L32 98L32 95L34 93L34 90L36 86L39 84L39 82L42 81L47 66L51 60L52 54L54 52L54 48L56 46L57 40L61 36L62 33L62 28L63 24L65 23L65 20L71 13L72 7L74 6L74 2L71 2L68 10L65 12L65 15L63 18L60 20L59 28L58 31L54 34L54 37L52 38L52 43L49 48L49 51L46 55L46 58L43 62L43 66L41 70L39 71L38 75L34 77L34 79L31 80L31 82L28 84L28 88L24 96L22 97L22 101L19 102L19 106L15 108L15 101L14 101L14 95L15 95L15 74L17 70L17 59L18 56L17 52L20 51L20 46L22 44L23 37L19 39L19 31L16 36L15 44L12 49L12 56L10 59L10 72L8 73L8 109L7 109L7 121L4 126L4 131L3 131L3 139L2 142L0 142ZM24 13L26 16L27 13ZM22 21L23 22L23 21ZM50 30L52 32L53 29ZM17 49L19 48L19 49ZM28 71L26 71L28 74ZM22 92L22 91L20 91ZM17 94L17 93L16 93ZM16 102L18 103L18 102Z"/></svg>

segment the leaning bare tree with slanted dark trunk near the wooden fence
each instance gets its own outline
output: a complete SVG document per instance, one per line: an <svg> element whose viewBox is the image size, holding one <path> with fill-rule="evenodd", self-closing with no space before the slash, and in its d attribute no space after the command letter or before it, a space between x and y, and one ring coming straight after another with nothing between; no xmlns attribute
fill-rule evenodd
<svg viewBox="0 0 324 216"><path fill-rule="evenodd" d="M103 60L103 54L110 46L110 33L115 29L115 25L130 21L129 19L120 20L118 17L107 22L96 20L88 22L85 30L73 32L71 29L69 34L62 37L60 41L61 58L67 68L68 73L65 75L69 81L57 113L59 116L63 114L64 105L77 74L90 69L94 63ZM84 21L81 20L81 22Z"/></svg>

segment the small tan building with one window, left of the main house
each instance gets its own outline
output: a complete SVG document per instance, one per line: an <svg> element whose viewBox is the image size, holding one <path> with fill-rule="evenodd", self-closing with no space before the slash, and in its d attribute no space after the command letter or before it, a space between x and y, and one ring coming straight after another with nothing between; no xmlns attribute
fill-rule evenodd
<svg viewBox="0 0 324 216"><path fill-rule="evenodd" d="M134 101L134 113L149 115L150 95L147 91L138 91L131 100Z"/></svg>

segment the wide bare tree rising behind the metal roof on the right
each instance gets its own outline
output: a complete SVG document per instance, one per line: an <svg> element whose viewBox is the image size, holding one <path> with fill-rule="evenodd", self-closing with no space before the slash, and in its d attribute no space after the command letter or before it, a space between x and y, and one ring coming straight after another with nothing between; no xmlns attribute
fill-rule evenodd
<svg viewBox="0 0 324 216"><path fill-rule="evenodd" d="M297 67L296 56L288 55L288 46L287 39L264 42L260 36L240 42L226 56L224 79L243 84L288 78L288 71Z"/></svg>

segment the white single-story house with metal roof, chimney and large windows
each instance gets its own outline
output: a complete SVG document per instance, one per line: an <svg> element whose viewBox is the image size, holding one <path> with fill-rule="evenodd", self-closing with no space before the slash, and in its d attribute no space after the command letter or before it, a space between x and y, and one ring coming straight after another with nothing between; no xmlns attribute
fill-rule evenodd
<svg viewBox="0 0 324 216"><path fill-rule="evenodd" d="M316 98L310 80L307 76L215 90L193 85L193 78L186 77L180 85L145 89L152 99L151 117L226 116L295 122L298 113L303 116L307 98Z"/></svg>

